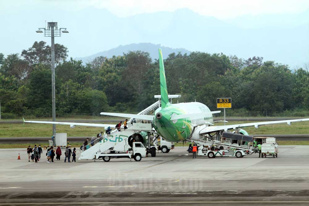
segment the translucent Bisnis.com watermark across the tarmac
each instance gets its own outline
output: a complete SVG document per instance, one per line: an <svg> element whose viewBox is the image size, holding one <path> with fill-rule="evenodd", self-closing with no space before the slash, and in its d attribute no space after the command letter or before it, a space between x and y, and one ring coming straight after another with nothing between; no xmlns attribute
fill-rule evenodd
<svg viewBox="0 0 309 206"><path fill-rule="evenodd" d="M139 172L139 171L138 171ZM133 172L136 177L136 172ZM109 174L107 184L113 190L201 190L203 181L201 179L181 177L164 178L158 174L143 175L142 178L134 178L131 173L112 172Z"/></svg>

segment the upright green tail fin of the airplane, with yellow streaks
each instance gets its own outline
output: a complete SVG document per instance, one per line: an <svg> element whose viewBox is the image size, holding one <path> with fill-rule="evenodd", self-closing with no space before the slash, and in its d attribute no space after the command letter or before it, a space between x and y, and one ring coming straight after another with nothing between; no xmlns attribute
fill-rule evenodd
<svg viewBox="0 0 309 206"><path fill-rule="evenodd" d="M159 65L160 65L160 90L161 90L161 106L166 107L168 102L168 93L166 86L165 70L163 64L162 51L159 49Z"/></svg>

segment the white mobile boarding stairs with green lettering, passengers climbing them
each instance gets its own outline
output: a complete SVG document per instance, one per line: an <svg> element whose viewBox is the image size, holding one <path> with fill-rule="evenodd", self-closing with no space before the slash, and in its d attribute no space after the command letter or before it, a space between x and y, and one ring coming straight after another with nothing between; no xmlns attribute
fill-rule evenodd
<svg viewBox="0 0 309 206"><path fill-rule="evenodd" d="M160 101L156 101L143 111L139 112L138 115L146 115L146 114L154 114L155 110L159 108ZM95 159L98 157L97 153L104 153L106 150L115 147L117 144L121 143L122 141L127 141L127 139L134 133L141 131L149 131L152 132L152 125L151 123L141 123L142 121L136 121L135 119L131 118L128 120L127 127L128 129L124 129L122 125L120 131L118 129L114 129L111 131L109 135L104 134L103 139L96 138L95 145L91 146L89 143L86 146L81 148L81 155L78 160L81 159ZM84 150L84 148L87 148Z"/></svg>

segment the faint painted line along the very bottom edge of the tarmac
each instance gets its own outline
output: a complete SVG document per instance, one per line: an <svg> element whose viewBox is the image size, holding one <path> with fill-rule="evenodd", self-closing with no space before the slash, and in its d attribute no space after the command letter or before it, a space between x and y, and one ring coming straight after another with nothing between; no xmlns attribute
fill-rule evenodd
<svg viewBox="0 0 309 206"><path fill-rule="evenodd" d="M168 202L50 202L45 204L218 204L218 203L309 203L309 201L168 201ZM0 205L29 205L29 203L0 203ZM31 203L31 205L44 205L44 203Z"/></svg>

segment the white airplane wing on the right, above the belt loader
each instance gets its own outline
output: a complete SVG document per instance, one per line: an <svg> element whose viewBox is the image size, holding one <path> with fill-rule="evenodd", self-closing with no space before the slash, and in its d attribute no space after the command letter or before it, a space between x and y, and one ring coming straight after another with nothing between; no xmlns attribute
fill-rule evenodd
<svg viewBox="0 0 309 206"><path fill-rule="evenodd" d="M200 131L200 134L210 133L210 132L217 132L217 131L227 131L229 129L237 129L241 127L250 127L254 126L255 128L259 128L260 125L266 124L280 124L280 123L287 123L291 125L291 122L302 122L302 121L309 121L308 119L298 119L298 120L280 120L280 121L269 121L269 122L252 122L252 123L244 123L244 124L231 124L231 125L223 125L223 126L208 126L205 127Z"/></svg>

